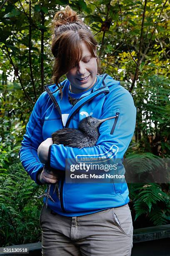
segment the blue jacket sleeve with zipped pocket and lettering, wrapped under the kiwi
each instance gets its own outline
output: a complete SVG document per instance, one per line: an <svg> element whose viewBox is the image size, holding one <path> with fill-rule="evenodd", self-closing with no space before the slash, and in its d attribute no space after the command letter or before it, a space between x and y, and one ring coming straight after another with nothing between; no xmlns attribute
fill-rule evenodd
<svg viewBox="0 0 170 256"><path fill-rule="evenodd" d="M122 159L127 150L135 130L136 108L133 97L120 84L111 86L112 90L106 96L102 106L100 119L115 116L117 120L110 119L100 125L100 136L96 146L88 148L72 148L62 144L52 144L49 148L48 164L52 168L65 170L65 159L77 159L77 156L98 156L111 154L114 147L116 154L113 156ZM110 88L109 88L110 89Z"/></svg>

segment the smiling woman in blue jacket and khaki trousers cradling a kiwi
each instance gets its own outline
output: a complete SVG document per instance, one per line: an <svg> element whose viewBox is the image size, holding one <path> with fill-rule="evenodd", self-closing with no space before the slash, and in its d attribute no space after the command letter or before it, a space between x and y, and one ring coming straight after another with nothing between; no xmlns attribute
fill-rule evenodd
<svg viewBox="0 0 170 256"><path fill-rule="evenodd" d="M43 205L40 213L42 255L129 256L133 224L127 184L67 183L61 174L68 159L123 159L135 129L133 98L120 82L97 73L97 42L69 6L55 14L53 29L54 83L45 86L46 92L35 103L20 149L21 162L37 184L59 183L60 200L52 194L52 185L50 195L55 202L49 199L47 209ZM67 79L60 84L63 74ZM88 115L116 116L100 125L96 146L80 149L52 144L54 131L77 128ZM55 173L47 172L46 166ZM122 161L120 172L124 174Z"/></svg>

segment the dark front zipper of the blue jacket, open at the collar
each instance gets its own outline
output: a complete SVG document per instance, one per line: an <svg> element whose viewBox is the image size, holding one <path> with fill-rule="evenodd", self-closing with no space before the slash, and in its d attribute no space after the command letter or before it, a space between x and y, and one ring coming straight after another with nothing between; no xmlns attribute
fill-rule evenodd
<svg viewBox="0 0 170 256"><path fill-rule="evenodd" d="M50 91L50 89L49 89L47 86L44 86L44 88L45 88L47 94L50 96L52 102L53 102L54 105L56 106L56 108L57 108L57 110L58 110L58 112L59 112L59 114L60 114L61 121L62 121L61 110L60 110L60 107L59 107L57 101L55 100L55 97L54 97L53 95L51 95L51 91ZM100 90L102 90L102 88L100 88ZM68 128L72 116L75 115L75 114L79 111L79 109L80 109L82 106L84 106L87 102L89 102L90 100L94 99L95 97L97 97L98 95L100 95L100 94L102 94L102 93L107 94L107 93L109 93L109 92L108 92L108 91L99 92L99 93L97 93L96 95L94 95L93 97L91 97L90 99L88 99L87 101L83 102L83 103L72 113L72 115L70 115L69 120L67 120L67 122L66 122L65 128ZM64 128L63 123L62 123L62 127ZM66 212L66 210L65 210L65 208L64 208L64 205L63 205L63 197L62 197L63 185L64 185L64 178L62 178L62 180L61 180L61 185L60 185L60 205L61 205L62 211L63 211L63 212Z"/></svg>

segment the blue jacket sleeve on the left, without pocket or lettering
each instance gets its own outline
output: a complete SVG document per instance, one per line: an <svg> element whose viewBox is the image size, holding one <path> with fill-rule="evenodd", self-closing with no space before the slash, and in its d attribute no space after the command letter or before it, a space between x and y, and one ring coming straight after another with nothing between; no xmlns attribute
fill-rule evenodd
<svg viewBox="0 0 170 256"><path fill-rule="evenodd" d="M40 96L41 97L41 96ZM29 122L26 126L26 133L21 142L19 152L20 161L26 172L38 185L42 183L37 179L38 174L42 171L44 164L40 162L37 155L37 148L43 140L42 124L40 112L40 97L30 115Z"/></svg>

